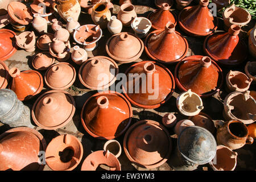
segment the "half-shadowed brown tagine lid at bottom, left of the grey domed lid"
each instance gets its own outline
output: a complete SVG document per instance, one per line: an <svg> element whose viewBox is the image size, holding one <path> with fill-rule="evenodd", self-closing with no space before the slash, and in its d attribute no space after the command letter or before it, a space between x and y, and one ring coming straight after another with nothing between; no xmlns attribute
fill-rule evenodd
<svg viewBox="0 0 256 182"><path fill-rule="evenodd" d="M172 141L163 125L143 120L136 122L126 132L123 148L127 158L137 166L156 168L168 160Z"/></svg>

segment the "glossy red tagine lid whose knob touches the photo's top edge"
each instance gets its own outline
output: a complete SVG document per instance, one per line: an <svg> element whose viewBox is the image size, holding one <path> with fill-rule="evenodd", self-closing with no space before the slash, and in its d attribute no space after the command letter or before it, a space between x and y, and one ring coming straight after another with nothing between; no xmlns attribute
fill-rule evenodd
<svg viewBox="0 0 256 182"><path fill-rule="evenodd" d="M185 7L179 14L181 30L191 36L207 36L217 30L218 19L208 9L209 0L200 0L199 5Z"/></svg>

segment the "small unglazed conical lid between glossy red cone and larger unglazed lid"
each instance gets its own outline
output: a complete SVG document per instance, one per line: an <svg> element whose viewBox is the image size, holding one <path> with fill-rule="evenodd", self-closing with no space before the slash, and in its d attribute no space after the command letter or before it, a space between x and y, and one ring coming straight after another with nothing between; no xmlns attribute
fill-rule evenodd
<svg viewBox="0 0 256 182"><path fill-rule="evenodd" d="M76 69L69 63L53 64L46 71L44 81L51 89L65 90L76 80Z"/></svg>

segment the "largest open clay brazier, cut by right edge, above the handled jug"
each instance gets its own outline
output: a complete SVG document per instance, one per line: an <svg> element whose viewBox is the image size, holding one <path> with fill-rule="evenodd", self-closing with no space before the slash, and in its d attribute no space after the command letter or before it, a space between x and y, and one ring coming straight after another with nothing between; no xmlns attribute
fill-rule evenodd
<svg viewBox="0 0 256 182"><path fill-rule="evenodd" d="M250 96L250 92L232 92L224 100L223 116L226 121L238 120L245 125L255 122L256 101Z"/></svg>

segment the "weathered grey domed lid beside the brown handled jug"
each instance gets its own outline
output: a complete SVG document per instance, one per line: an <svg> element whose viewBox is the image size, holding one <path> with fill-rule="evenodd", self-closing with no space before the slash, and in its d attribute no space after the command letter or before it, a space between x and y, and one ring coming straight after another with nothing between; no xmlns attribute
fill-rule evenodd
<svg viewBox="0 0 256 182"><path fill-rule="evenodd" d="M185 127L179 135L177 147L185 159L199 165L209 163L217 150L213 135L200 126Z"/></svg>

